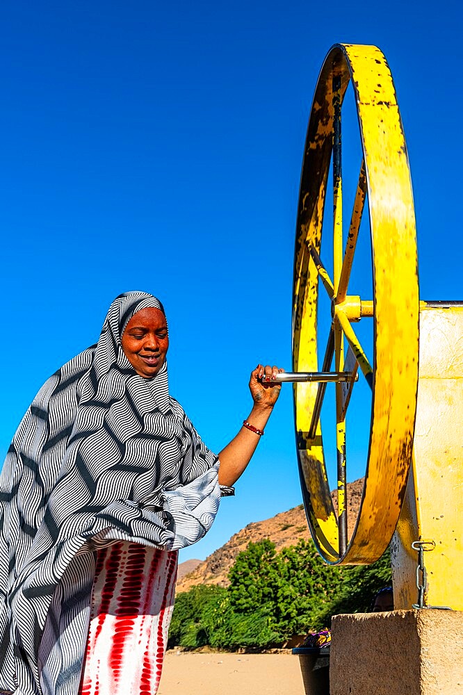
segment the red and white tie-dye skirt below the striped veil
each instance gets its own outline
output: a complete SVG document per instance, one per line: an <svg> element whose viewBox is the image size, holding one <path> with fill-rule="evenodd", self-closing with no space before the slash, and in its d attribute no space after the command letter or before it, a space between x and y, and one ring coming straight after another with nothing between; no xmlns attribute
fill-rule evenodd
<svg viewBox="0 0 463 695"><path fill-rule="evenodd" d="M99 550L80 695L158 691L176 578L176 550Z"/></svg>

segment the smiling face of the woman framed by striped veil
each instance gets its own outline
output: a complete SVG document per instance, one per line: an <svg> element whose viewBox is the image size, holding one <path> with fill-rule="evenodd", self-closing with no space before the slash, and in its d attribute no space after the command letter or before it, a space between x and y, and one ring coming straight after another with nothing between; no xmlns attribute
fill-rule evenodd
<svg viewBox="0 0 463 695"><path fill-rule="evenodd" d="M140 377L151 379L165 362L168 326L161 309L149 306L134 314L121 338L122 350Z"/></svg>

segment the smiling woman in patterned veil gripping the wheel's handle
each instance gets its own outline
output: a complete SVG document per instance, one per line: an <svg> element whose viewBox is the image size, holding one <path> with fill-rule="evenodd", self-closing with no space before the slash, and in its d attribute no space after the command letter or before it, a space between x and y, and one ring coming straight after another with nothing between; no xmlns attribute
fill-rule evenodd
<svg viewBox="0 0 463 695"><path fill-rule="evenodd" d="M277 368L259 365L250 415L217 457L169 395L167 350L161 302L120 295L15 433L0 477L1 693L157 690L177 550L209 530L279 395Z"/></svg>

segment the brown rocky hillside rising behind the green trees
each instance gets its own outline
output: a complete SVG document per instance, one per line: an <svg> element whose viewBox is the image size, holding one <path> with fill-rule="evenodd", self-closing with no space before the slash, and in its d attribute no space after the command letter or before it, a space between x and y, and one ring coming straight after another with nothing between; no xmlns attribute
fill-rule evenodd
<svg viewBox="0 0 463 695"><path fill-rule="evenodd" d="M360 502L362 501L362 491L364 479L359 478L355 482L348 483L348 532L349 536L357 521ZM334 508L337 509L336 492L332 492ZM247 544L252 541L256 543L263 538L269 538L275 543L277 550L288 546L295 546L299 539L309 539L310 532L303 505L289 509L288 512L281 512L276 516L265 521L256 521L247 524L245 528L234 534L232 538L221 548L215 550L209 557L202 562L197 560L187 560L179 565L179 578L177 580L177 593L188 591L195 584L219 584L226 587L228 584L227 575L229 569L235 561L236 555L247 548ZM190 566L184 568L188 563L198 563L191 571Z"/></svg>

